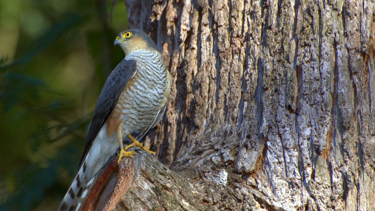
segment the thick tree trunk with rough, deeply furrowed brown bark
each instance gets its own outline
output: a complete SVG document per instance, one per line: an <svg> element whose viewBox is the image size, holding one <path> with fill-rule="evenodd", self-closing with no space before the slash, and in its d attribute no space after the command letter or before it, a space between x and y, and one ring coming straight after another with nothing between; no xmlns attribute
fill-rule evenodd
<svg viewBox="0 0 375 211"><path fill-rule="evenodd" d="M115 210L375 209L373 0L126 5L174 83Z"/></svg>

